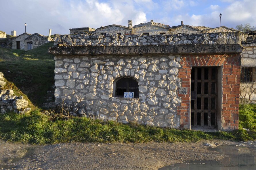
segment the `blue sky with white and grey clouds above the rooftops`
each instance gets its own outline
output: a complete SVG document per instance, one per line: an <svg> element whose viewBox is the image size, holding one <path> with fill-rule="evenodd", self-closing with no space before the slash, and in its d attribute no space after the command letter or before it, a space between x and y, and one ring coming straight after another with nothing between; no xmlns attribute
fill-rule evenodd
<svg viewBox="0 0 256 170"><path fill-rule="evenodd" d="M169 26L256 26L256 0L0 0L0 30L17 35L25 32L69 34L69 28L99 28L160 22Z"/></svg>

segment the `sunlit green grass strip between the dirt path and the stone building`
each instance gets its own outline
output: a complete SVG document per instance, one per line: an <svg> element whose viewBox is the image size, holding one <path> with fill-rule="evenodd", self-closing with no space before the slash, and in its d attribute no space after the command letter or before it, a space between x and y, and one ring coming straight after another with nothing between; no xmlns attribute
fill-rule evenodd
<svg viewBox="0 0 256 170"><path fill-rule="evenodd" d="M247 108L246 110L243 110ZM255 115L255 105L244 105L240 114ZM245 116L245 117L246 117ZM242 116L243 117L243 116ZM242 118L243 119L243 118ZM121 124L86 117L44 115L35 108L28 114L0 115L0 138L11 142L55 144L60 142L196 142L199 140L255 140L255 118L240 120L240 129L233 132L200 132ZM252 120L253 119L253 120ZM247 125L247 122L254 122ZM253 125L254 124L254 125ZM252 128L250 132L242 127Z"/></svg>

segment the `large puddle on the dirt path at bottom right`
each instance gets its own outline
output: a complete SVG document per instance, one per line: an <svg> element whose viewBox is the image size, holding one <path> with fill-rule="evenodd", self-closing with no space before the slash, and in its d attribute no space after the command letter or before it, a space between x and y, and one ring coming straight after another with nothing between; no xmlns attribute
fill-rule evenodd
<svg viewBox="0 0 256 170"><path fill-rule="evenodd" d="M159 170L253 170L256 169L256 152L247 147L221 146L209 150L226 155L221 161L189 161L160 168Z"/></svg>

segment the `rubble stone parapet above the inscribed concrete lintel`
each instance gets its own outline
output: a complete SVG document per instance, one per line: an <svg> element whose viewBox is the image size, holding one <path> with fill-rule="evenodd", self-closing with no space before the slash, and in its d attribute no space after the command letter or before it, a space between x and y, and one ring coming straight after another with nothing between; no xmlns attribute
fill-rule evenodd
<svg viewBox="0 0 256 170"><path fill-rule="evenodd" d="M132 46L169 44L240 44L244 37L238 32L228 38L219 38L219 33L173 34L173 35L56 35L54 45L65 46ZM222 47L221 47L222 48ZM231 47L230 47L231 48Z"/></svg>

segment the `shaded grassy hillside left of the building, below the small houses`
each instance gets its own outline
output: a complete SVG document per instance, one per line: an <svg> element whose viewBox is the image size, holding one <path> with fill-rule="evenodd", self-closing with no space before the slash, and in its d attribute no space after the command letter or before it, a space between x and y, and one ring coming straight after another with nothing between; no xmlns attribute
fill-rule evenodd
<svg viewBox="0 0 256 170"><path fill-rule="evenodd" d="M37 106L54 85L54 56L48 54L51 46L53 42L30 51L0 48L0 72Z"/></svg>

